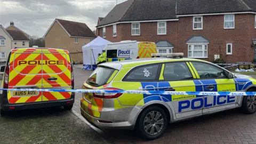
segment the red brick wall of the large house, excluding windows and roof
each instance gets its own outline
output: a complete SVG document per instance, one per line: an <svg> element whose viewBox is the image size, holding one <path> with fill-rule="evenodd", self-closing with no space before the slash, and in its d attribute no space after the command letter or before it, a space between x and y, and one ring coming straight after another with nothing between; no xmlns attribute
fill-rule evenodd
<svg viewBox="0 0 256 144"><path fill-rule="evenodd" d="M137 40L155 43L167 40L174 44L173 52L183 52L187 57L186 42L193 35L201 35L210 40L208 58L204 60L212 62L214 54L223 54L228 63L252 61L252 38L256 38L254 20L254 14L235 14L235 29L224 29L224 15L207 15L203 17L203 30L193 30L193 17L180 17L179 21L167 21L167 35L157 35L157 22L143 22L140 23L140 36L131 35L131 23L121 23L117 25L116 38L113 38L113 27L106 27L106 39L111 42ZM226 54L226 43L233 43L232 55Z"/></svg>

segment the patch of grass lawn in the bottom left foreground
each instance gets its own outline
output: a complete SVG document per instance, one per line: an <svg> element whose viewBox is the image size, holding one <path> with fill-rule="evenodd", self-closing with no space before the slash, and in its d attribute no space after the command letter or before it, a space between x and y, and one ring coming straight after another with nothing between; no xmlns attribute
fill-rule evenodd
<svg viewBox="0 0 256 144"><path fill-rule="evenodd" d="M71 111L15 111L0 117L0 143L108 143Z"/></svg>

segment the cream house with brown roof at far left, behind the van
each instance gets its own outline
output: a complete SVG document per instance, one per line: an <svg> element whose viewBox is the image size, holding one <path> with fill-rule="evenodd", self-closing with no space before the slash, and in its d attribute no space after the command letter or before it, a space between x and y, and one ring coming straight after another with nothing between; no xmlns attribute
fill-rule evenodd
<svg viewBox="0 0 256 144"><path fill-rule="evenodd" d="M0 61L6 61L12 49L29 47L29 35L10 22L10 26L4 28L0 25Z"/></svg>

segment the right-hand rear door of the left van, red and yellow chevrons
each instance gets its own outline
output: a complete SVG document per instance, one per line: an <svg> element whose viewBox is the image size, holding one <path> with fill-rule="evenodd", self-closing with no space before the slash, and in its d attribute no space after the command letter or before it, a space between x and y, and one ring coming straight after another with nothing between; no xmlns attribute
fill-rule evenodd
<svg viewBox="0 0 256 144"><path fill-rule="evenodd" d="M68 51L43 49L43 89L71 89L71 65ZM70 92L43 92L43 101L69 99Z"/></svg>

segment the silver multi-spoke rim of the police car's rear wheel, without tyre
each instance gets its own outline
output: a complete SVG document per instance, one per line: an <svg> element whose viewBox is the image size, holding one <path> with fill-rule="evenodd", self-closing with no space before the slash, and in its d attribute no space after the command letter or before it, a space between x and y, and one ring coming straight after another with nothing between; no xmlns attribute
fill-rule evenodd
<svg viewBox="0 0 256 144"><path fill-rule="evenodd" d="M150 111L144 119L144 130L149 135L156 135L162 131L164 118L158 111Z"/></svg>

